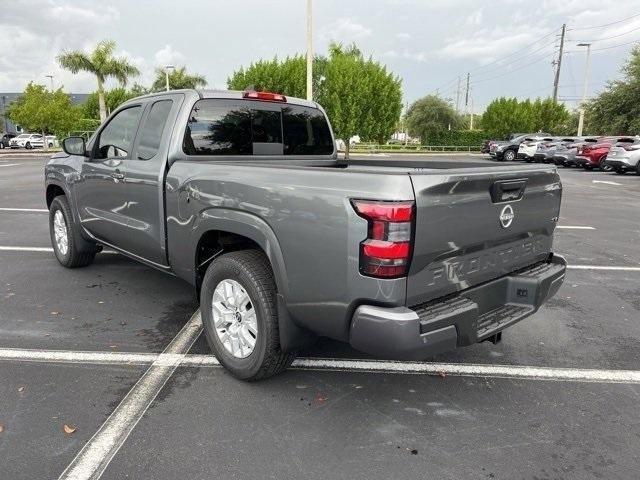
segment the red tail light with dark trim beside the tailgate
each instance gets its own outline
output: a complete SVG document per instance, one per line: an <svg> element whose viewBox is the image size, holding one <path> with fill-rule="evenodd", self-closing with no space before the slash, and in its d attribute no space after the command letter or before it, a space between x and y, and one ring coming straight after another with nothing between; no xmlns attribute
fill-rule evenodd
<svg viewBox="0 0 640 480"><path fill-rule="evenodd" d="M360 243L360 273L377 278L407 275L415 222L414 202L353 200L353 208L369 222Z"/></svg>

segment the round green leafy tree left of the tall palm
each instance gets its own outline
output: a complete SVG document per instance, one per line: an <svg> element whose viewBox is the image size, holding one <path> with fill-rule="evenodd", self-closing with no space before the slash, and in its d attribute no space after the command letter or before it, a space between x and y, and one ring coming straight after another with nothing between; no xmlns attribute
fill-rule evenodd
<svg viewBox="0 0 640 480"><path fill-rule="evenodd" d="M72 105L71 98L62 88L52 92L33 82L9 105L7 113L13 123L39 132L43 137L50 133L59 137L66 135L81 116L80 110Z"/></svg>

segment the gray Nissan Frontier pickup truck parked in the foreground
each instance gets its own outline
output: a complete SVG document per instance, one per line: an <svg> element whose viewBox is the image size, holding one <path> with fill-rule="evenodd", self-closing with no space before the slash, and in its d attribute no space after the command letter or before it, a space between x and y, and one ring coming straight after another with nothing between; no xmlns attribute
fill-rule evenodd
<svg viewBox="0 0 640 480"><path fill-rule="evenodd" d="M46 165L65 267L103 247L186 280L236 377L317 336L419 360L498 341L554 295L553 166L338 159L313 102L182 90L130 100Z"/></svg>

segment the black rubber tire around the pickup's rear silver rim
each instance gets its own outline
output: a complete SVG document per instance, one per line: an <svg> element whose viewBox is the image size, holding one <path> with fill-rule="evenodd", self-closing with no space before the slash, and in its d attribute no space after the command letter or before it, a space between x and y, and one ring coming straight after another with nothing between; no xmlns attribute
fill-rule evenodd
<svg viewBox="0 0 640 480"><path fill-rule="evenodd" d="M257 318L253 351L246 358L234 357L218 337L211 305L220 282L234 280L249 295ZM236 378L256 381L272 377L291 365L295 353L280 348L276 284L269 260L259 250L221 255L207 268L200 291L200 311L207 341L218 361Z"/></svg>

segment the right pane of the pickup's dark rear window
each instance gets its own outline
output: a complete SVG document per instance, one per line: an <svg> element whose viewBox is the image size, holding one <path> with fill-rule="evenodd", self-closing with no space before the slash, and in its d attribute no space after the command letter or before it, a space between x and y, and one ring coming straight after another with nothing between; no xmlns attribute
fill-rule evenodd
<svg viewBox="0 0 640 480"><path fill-rule="evenodd" d="M282 109L285 155L331 155L334 150L329 124L317 108L286 106Z"/></svg>

